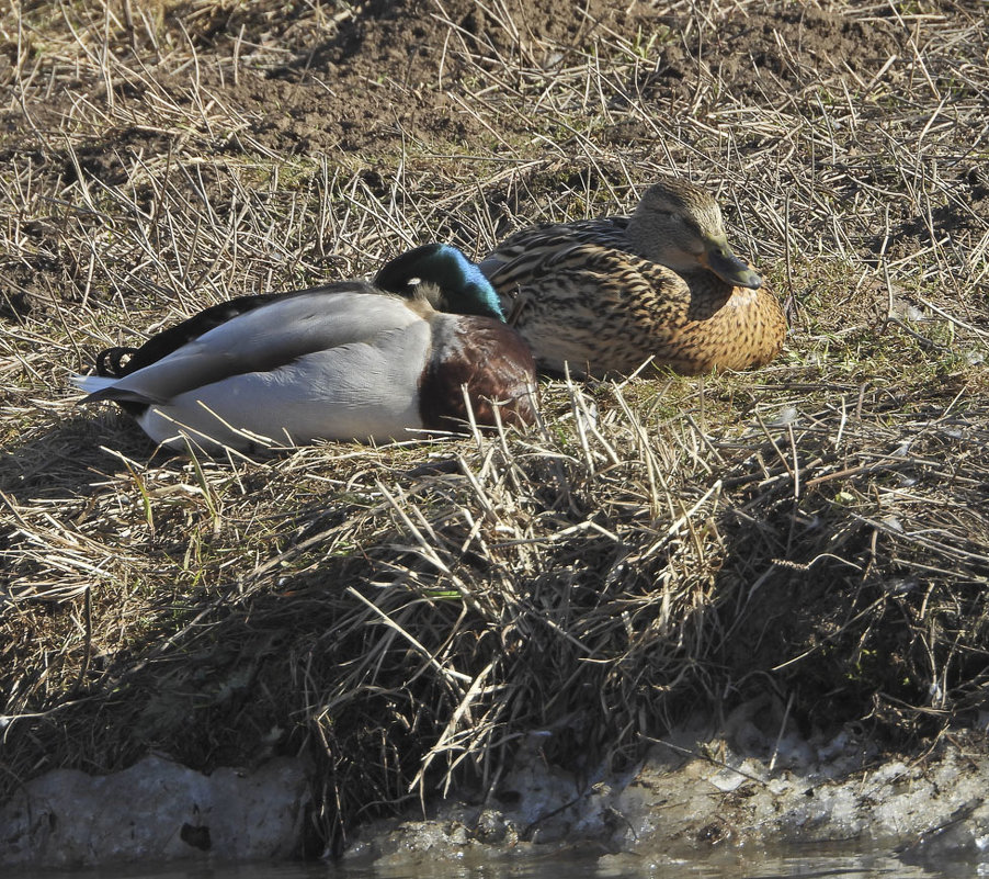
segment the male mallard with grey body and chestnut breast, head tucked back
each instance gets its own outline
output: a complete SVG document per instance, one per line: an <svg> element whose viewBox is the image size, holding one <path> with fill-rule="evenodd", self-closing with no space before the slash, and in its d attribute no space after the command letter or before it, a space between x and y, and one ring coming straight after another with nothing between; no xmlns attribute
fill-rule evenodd
<svg viewBox="0 0 989 879"><path fill-rule="evenodd" d="M447 314L451 312L451 314ZM124 357L129 360L124 362ZM456 248L425 245L374 280L214 305L138 349L111 348L72 381L158 443L246 449L386 441L534 418L535 367L491 285Z"/></svg>

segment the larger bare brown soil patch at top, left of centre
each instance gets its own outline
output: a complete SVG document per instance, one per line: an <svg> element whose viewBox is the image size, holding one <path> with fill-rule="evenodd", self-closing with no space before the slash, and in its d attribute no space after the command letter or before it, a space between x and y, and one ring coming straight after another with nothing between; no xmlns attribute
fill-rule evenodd
<svg viewBox="0 0 989 879"><path fill-rule="evenodd" d="M512 65L552 71L602 29L638 21L625 5L596 0L578 13L567 0L511 0L497 18L473 0L371 3L329 38L297 42L292 59L249 75L232 95L258 115L252 134L272 149L476 145L491 133L473 110L471 80L493 83ZM284 115L269 113L272 101ZM526 127L512 115L501 123Z"/></svg>

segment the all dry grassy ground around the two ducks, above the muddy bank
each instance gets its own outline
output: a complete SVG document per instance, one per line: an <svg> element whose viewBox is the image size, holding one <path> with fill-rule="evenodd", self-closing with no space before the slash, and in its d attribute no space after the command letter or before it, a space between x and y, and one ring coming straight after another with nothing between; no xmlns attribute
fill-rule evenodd
<svg viewBox="0 0 989 879"><path fill-rule="evenodd" d="M572 770L765 694L911 759L985 724L979 0L15 0L0 97L0 800L303 754L339 850L498 796L532 731ZM787 303L769 368L266 462L152 457L68 388L223 298L670 174Z"/></svg>

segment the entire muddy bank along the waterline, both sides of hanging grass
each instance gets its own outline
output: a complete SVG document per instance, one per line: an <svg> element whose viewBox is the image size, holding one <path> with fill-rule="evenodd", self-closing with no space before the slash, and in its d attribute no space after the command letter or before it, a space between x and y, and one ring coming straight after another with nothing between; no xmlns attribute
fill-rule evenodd
<svg viewBox="0 0 989 879"><path fill-rule="evenodd" d="M854 729L802 737L780 708L748 703L719 735L681 730L623 773L552 766L548 733L532 733L487 796L360 825L340 854L408 870L576 846L617 868L854 841L905 864L989 864L985 731L890 757ZM103 777L56 770L0 811L0 866L299 857L309 785L311 767L288 759L211 776L157 757Z"/></svg>

